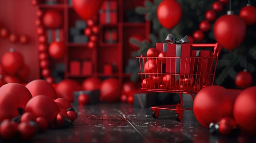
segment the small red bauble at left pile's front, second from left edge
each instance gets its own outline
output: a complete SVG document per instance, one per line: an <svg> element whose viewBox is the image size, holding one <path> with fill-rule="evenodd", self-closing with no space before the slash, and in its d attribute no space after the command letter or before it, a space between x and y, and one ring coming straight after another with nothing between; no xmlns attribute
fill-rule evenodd
<svg viewBox="0 0 256 143"><path fill-rule="evenodd" d="M21 139L29 140L36 134L36 128L29 122L22 122L18 125L18 132Z"/></svg>

